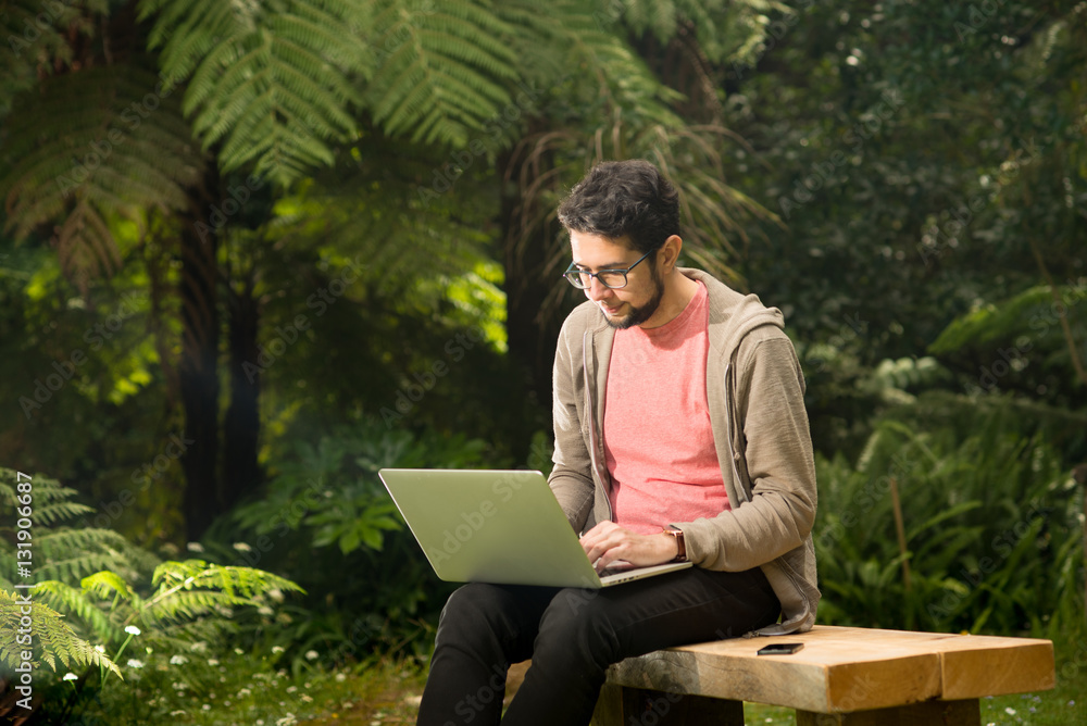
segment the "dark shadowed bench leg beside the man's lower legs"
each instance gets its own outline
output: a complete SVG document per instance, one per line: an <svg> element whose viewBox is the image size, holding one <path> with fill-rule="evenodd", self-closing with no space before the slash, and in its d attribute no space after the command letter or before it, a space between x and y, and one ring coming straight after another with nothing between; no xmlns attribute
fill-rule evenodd
<svg viewBox="0 0 1087 726"><path fill-rule="evenodd" d="M744 726L744 702L604 684L592 726Z"/></svg>

